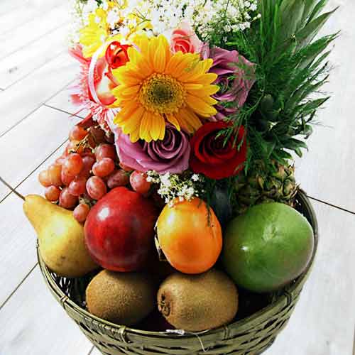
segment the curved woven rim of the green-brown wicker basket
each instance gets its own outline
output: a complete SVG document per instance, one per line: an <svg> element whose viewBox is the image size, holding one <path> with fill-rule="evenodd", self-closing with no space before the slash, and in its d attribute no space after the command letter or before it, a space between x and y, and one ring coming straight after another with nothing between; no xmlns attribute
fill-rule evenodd
<svg viewBox="0 0 355 355"><path fill-rule="evenodd" d="M307 214L310 216L310 219L312 220L312 227L314 231L314 238L315 238L315 247L313 249L312 253L312 258L310 263L308 264L306 270L302 273L302 275L297 278L293 283L290 285L286 286L285 288L285 293L283 295L278 296L277 300L272 302L270 305L267 305L266 307L263 307L263 309L259 310L256 313L253 313L253 315L250 315L249 317L246 317L242 320L237 320L236 322L233 322L231 324L228 324L227 326L224 327L219 327L216 329L208 329L204 330L203 332L194 332L194 333L189 333L186 332L185 334L175 334L175 333L170 333L170 332L151 332L147 330L141 330L141 329L134 329L131 327L126 327L124 325L119 325L119 324L114 324L111 322L108 322L106 320L102 320L99 317L96 317L89 313L87 310L84 310L82 307L77 305L75 302L70 300L65 293L60 289L60 287L55 283L55 280L53 279L52 275L50 275L50 271L45 266L45 263L43 259L40 256L38 245L37 245L37 255L38 255L38 263L40 266L40 271L43 274L43 278L45 279L45 283L48 285L50 288L50 291L55 295L55 297L58 299L58 302L62 304L64 307L70 307L72 311L76 312L77 314L80 315L80 317L83 317L84 319L87 319L91 322L97 322L98 324L102 324L105 328L108 328L111 332L116 332L119 334L122 334L122 331L124 330L125 333L131 333L131 334L136 334L138 336L148 336L148 337L156 337L156 338L190 338L190 337L196 337L196 335L202 336L205 334L213 335L217 334L220 332L225 332L226 327L242 327L246 324L249 324L253 322L254 320L257 320L259 317L262 317L269 311L273 310L273 308L277 308L278 305L283 304L285 300L287 300L288 296L287 294L290 293L295 293L297 290L301 290L302 286L304 285L305 281L308 278L308 275L310 274L310 271L312 270L312 265L315 261L315 254L317 251L317 245L318 245L318 222L317 222L317 217L315 214L315 210L312 207L312 204L310 203L310 200L308 199L306 193L303 190L298 190L297 192L297 199L302 202L302 207L305 209L304 212L307 212Z"/></svg>

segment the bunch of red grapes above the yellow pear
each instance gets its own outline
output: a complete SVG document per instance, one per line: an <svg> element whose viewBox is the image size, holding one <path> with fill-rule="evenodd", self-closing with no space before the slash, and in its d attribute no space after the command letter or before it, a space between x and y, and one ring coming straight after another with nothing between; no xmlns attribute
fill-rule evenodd
<svg viewBox="0 0 355 355"><path fill-rule="evenodd" d="M98 126L74 126L69 139L64 153L38 180L46 188L46 199L72 209L78 222L84 222L90 208L114 187L130 184L142 195L151 190L145 174L119 163L112 137Z"/></svg>

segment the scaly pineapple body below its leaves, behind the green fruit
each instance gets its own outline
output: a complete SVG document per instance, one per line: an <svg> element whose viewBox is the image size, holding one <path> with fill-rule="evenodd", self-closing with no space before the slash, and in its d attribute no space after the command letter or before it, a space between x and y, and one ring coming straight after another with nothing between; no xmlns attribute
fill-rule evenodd
<svg viewBox="0 0 355 355"><path fill-rule="evenodd" d="M248 175L240 174L234 185L234 212L241 214L254 204L281 202L291 207L295 203L297 185L294 165L272 161L272 170L266 170L263 161L255 163Z"/></svg>

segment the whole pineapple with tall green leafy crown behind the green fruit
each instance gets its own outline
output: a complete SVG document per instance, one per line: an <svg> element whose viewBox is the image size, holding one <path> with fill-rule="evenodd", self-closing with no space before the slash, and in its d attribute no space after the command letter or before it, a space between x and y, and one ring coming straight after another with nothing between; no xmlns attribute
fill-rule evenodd
<svg viewBox="0 0 355 355"><path fill-rule="evenodd" d="M256 84L236 124L247 127L246 173L232 182L234 214L254 204L293 206L297 185L295 155L302 157L317 110L327 102L320 88L327 82L329 45L337 38L318 35L335 10L322 13L326 0L260 0L262 25L247 36L233 34L241 55L256 63Z"/></svg>

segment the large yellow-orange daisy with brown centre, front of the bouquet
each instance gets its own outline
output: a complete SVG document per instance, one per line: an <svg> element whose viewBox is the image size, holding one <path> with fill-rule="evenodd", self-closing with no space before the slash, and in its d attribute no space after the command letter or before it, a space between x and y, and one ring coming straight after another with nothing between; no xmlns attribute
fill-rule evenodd
<svg viewBox="0 0 355 355"><path fill-rule="evenodd" d="M131 141L163 139L165 120L187 132L200 128L202 118L217 113L211 97L219 87L217 75L209 73L212 59L200 55L171 53L165 36L140 35L129 48L129 62L113 71L119 86L112 90L121 111L115 123Z"/></svg>

